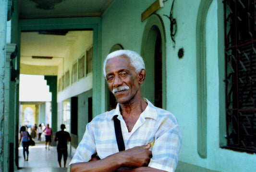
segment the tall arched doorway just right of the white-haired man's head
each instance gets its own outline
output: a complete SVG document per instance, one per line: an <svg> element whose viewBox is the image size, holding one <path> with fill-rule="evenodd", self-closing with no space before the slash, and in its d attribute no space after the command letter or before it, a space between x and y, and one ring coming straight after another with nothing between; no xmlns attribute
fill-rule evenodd
<svg viewBox="0 0 256 172"><path fill-rule="evenodd" d="M155 106L165 108L165 32L161 18L151 16L145 26L141 55L146 65L143 97Z"/></svg>

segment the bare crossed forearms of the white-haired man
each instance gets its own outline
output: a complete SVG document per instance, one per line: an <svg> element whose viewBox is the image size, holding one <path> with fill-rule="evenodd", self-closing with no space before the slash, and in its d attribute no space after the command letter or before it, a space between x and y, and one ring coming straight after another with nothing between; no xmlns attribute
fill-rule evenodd
<svg viewBox="0 0 256 172"><path fill-rule="evenodd" d="M152 152L150 144L137 146L99 160L95 156L89 162L71 164L70 172L165 172L147 167Z"/></svg>

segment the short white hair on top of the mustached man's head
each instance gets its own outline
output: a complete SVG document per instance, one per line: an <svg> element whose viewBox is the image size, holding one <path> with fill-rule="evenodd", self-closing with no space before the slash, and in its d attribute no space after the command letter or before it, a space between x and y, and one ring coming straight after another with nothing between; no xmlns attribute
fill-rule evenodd
<svg viewBox="0 0 256 172"><path fill-rule="evenodd" d="M116 56L121 56L121 55L125 55L126 57L128 57L130 59L131 66L133 66L135 68L136 74L138 74L142 69L145 69L145 64L144 64L144 61L143 61L142 57L140 56L140 54L138 54L134 51L131 51L131 50L117 50L117 51L110 53L104 61L103 74L105 77L106 77L107 61L110 58L113 58Z"/></svg>

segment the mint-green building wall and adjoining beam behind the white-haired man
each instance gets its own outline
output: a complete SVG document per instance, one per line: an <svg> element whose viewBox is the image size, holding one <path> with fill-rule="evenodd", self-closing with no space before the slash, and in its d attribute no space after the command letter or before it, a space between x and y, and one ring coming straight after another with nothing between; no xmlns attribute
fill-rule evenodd
<svg viewBox="0 0 256 172"><path fill-rule="evenodd" d="M173 17L177 22L175 46L170 37L170 20L164 16L170 15L172 0L165 1L164 7L156 12L162 21L162 36L165 38L163 48L166 55L163 65L166 66L166 109L178 118L183 138L177 172L249 172L256 169L254 154L220 148L226 143L223 4L221 0L211 1L208 9L203 8L206 2L209 2L206 0L174 2ZM79 95L78 141L82 139L88 122L84 113L86 99L93 96L94 116L106 109L106 104L101 103L106 100L105 79L102 75L103 60L111 47L117 43L124 49L142 53L142 47L147 44L143 42L143 33L152 16L141 22L141 13L153 2L154 0L115 0L108 11L97 19L20 21L20 30L26 31L88 27L94 29L93 44L96 49L93 61L93 91ZM198 24L198 20L202 21ZM202 32L198 32L198 29L202 29ZM180 48L184 49L181 59L178 58ZM198 60L202 63L198 63ZM202 73L204 75L199 75ZM198 82L198 78L202 79L202 83ZM200 93L201 88L205 89L201 92L203 94ZM200 97L205 101L198 103ZM199 108L203 111L199 111Z"/></svg>

